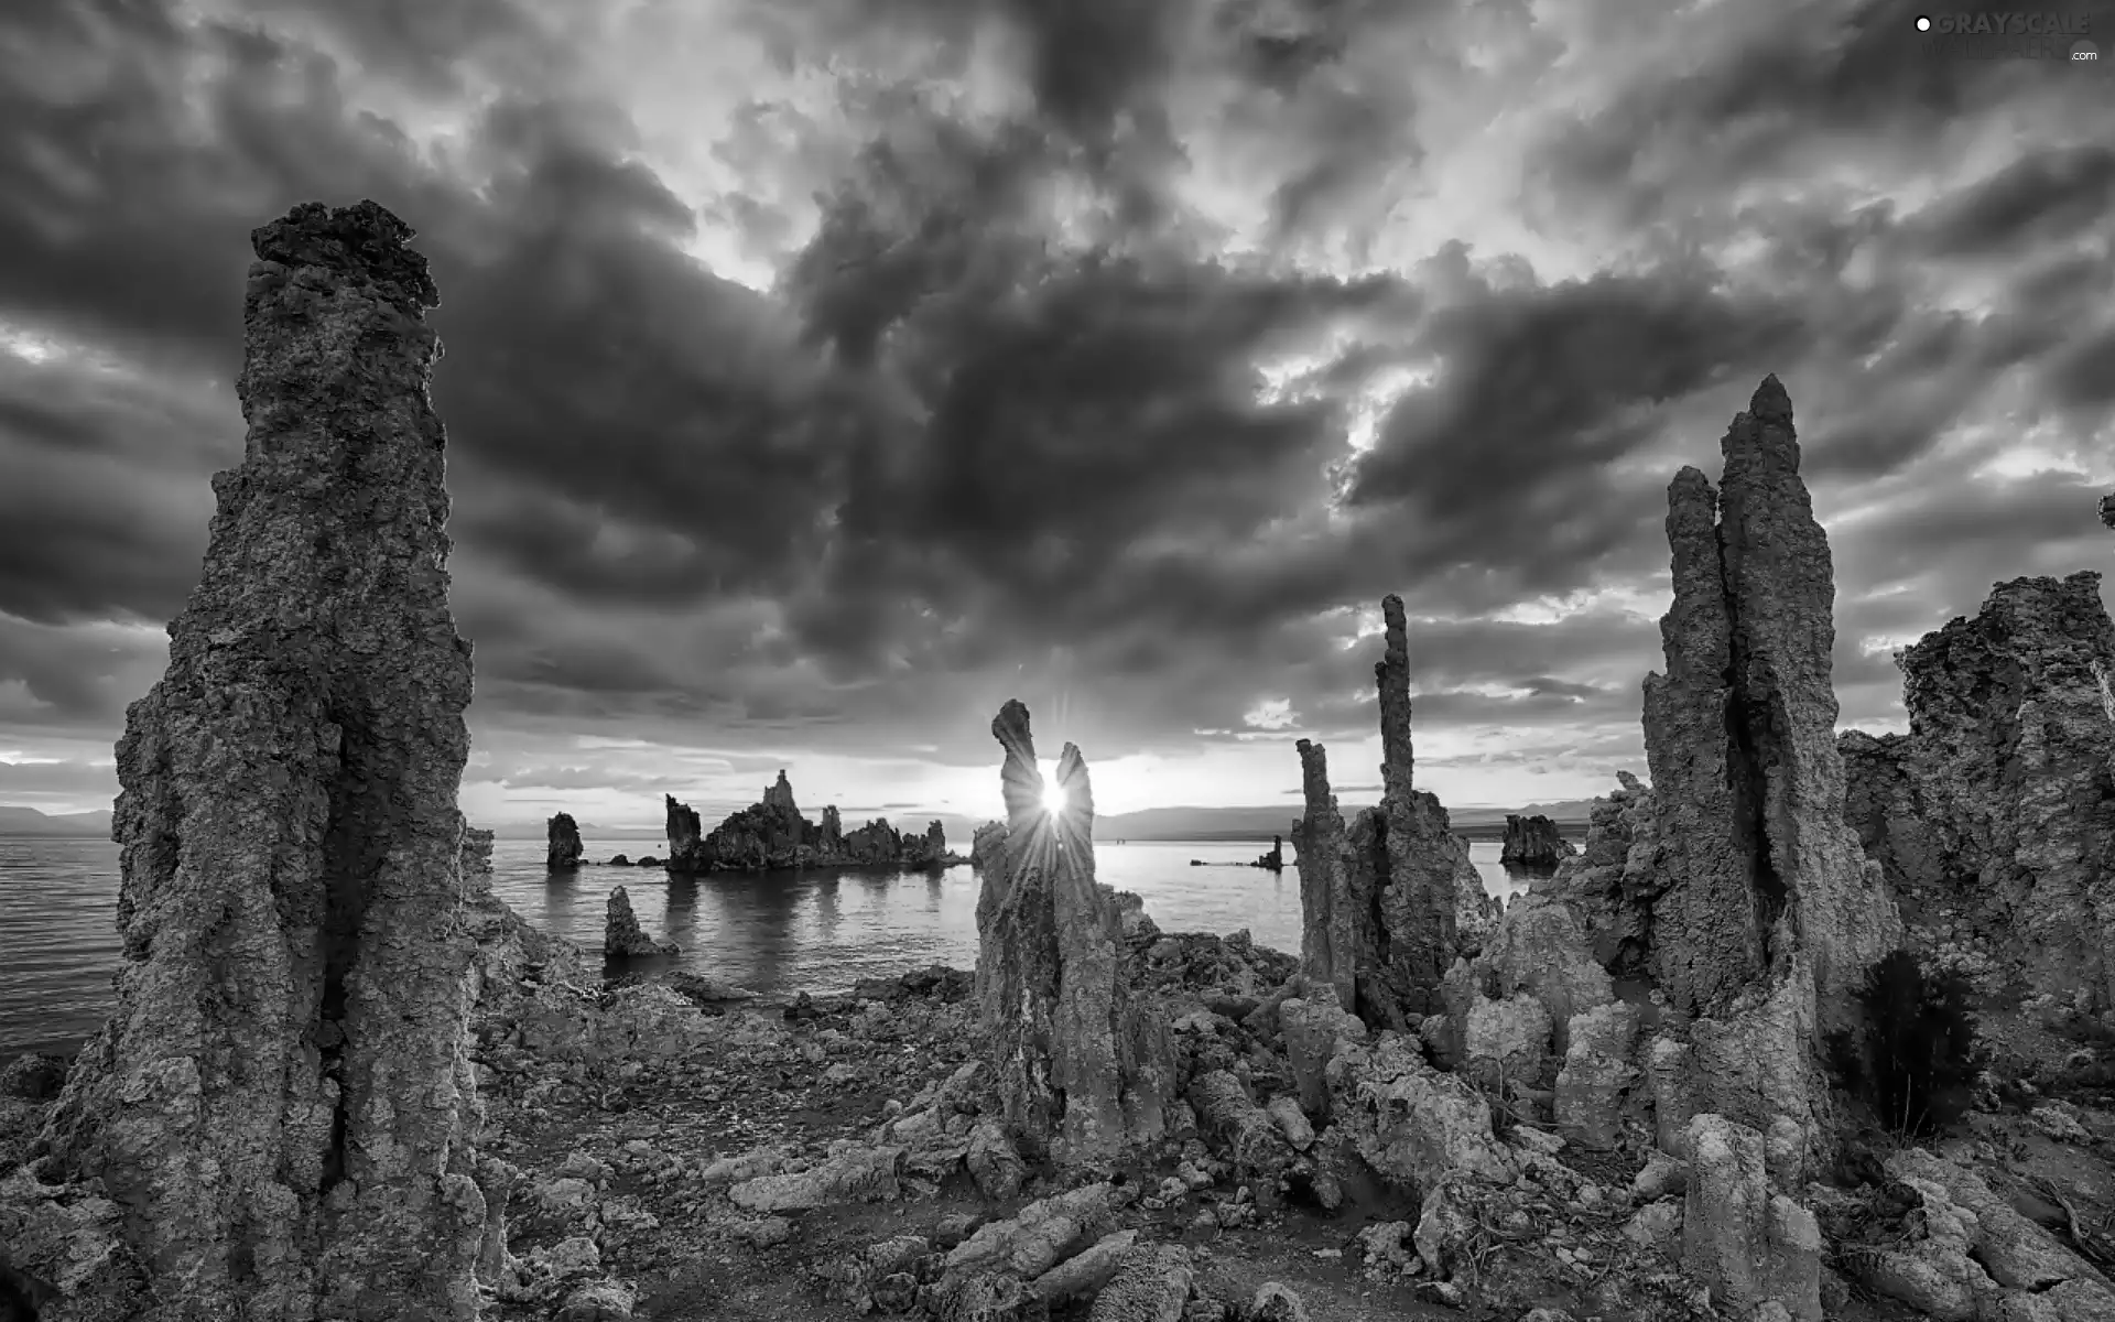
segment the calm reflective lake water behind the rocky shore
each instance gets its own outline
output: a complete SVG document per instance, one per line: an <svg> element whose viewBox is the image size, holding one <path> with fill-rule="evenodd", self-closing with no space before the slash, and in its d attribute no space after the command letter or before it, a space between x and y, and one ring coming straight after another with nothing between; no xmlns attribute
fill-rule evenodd
<svg viewBox="0 0 2115 1322"><path fill-rule="evenodd" d="M660 840L588 840L590 859L660 852ZM1299 952L1301 880L1292 867L1239 863L1265 846L1098 844L1096 876L1136 890L1165 931L1227 935L1248 929L1263 945ZM1290 844L1286 846L1290 855ZM1497 844L1472 844L1485 890L1527 888L1497 863ZM888 977L931 962L977 962L977 874L802 871L713 874L673 882L658 867L582 867L552 878L544 842L493 846L493 890L539 929L603 941L609 893L624 886L641 926L683 954L668 967L709 973L768 998L842 992L859 977ZM106 840L0 838L0 1060L17 1051L70 1053L110 1013L118 848ZM658 965L660 960L656 960Z"/></svg>

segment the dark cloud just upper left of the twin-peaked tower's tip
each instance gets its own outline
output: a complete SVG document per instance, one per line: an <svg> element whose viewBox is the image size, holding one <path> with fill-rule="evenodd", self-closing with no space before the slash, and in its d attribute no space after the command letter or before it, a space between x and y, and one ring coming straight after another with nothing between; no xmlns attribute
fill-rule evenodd
<svg viewBox="0 0 2115 1322"><path fill-rule="evenodd" d="M1434 379L1394 404L1343 499L1415 520L1419 577L1474 565L1510 592L1586 586L1635 544L1665 478L1620 461L1662 440L1662 406L1760 379L1806 332L1796 302L1724 292L1709 269L1457 279L1466 296L1411 347Z"/></svg>

